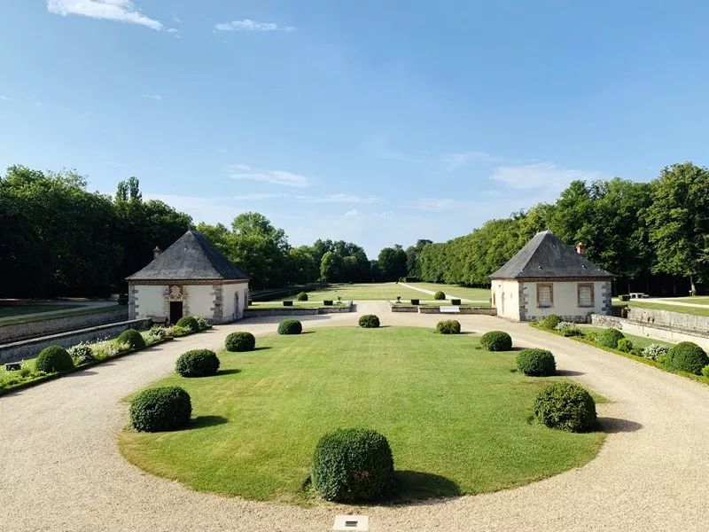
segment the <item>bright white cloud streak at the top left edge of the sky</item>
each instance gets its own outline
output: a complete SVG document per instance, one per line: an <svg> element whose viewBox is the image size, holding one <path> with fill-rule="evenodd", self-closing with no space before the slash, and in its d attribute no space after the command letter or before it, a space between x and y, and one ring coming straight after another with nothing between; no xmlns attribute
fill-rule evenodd
<svg viewBox="0 0 709 532"><path fill-rule="evenodd" d="M160 31L160 20L145 16L130 0L47 0L47 10L65 16L81 15L91 19L138 24Z"/></svg>

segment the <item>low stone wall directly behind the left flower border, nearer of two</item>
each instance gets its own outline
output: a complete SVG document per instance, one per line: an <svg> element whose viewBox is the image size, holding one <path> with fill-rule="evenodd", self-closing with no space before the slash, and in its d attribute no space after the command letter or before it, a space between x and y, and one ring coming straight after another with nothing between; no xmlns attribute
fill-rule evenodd
<svg viewBox="0 0 709 532"><path fill-rule="evenodd" d="M0 345L0 364L17 362L26 358L34 358L43 349L50 346L70 348L82 341L104 340L113 338L128 329L147 329L152 325L151 319L133 319L117 324L97 325L79 331L60 332L42 336L32 340L22 340Z"/></svg>

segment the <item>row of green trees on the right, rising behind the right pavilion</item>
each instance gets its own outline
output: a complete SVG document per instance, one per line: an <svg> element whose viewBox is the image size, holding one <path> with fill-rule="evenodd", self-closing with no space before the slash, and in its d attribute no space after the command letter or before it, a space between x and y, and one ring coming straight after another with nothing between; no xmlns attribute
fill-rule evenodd
<svg viewBox="0 0 709 532"><path fill-rule="evenodd" d="M488 276L539 231L582 242L614 273L617 293L687 295L709 279L709 169L663 168L647 183L615 177L573 181L555 203L491 220L463 237L425 246L417 274L428 282L489 286Z"/></svg>

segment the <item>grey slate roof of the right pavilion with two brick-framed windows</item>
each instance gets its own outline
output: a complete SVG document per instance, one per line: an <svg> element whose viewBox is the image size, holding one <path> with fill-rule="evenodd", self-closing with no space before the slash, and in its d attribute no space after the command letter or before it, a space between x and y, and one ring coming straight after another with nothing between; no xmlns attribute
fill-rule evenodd
<svg viewBox="0 0 709 532"><path fill-rule="evenodd" d="M613 278L582 254L566 246L551 231L541 231L520 249L491 279Z"/></svg>

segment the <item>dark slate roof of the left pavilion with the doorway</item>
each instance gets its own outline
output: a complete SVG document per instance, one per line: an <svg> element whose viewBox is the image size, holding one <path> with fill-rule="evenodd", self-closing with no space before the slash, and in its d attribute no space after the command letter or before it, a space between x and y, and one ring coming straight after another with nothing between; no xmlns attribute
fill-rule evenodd
<svg viewBox="0 0 709 532"><path fill-rule="evenodd" d="M128 281L248 280L199 231L187 231Z"/></svg>

